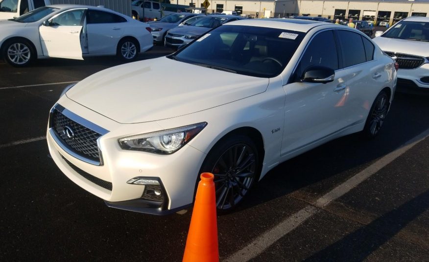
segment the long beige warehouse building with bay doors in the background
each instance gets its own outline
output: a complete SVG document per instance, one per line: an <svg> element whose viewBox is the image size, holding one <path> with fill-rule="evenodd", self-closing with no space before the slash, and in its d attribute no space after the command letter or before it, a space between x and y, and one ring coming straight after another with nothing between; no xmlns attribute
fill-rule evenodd
<svg viewBox="0 0 429 262"><path fill-rule="evenodd" d="M174 0L172 0L172 3ZM178 4L203 7L205 0L178 0ZM208 13L236 11L243 16L289 17L293 15L321 16L340 20L370 20L375 24L394 24L408 16L428 16L429 0L209 0Z"/></svg>

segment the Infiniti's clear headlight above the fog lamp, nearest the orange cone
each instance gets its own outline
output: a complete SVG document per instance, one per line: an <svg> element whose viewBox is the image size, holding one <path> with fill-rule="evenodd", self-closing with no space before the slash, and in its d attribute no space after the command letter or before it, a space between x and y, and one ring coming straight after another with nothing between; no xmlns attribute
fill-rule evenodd
<svg viewBox="0 0 429 262"><path fill-rule="evenodd" d="M118 143L124 150L172 154L191 141L206 125L207 122L202 122L160 132L121 138Z"/></svg>

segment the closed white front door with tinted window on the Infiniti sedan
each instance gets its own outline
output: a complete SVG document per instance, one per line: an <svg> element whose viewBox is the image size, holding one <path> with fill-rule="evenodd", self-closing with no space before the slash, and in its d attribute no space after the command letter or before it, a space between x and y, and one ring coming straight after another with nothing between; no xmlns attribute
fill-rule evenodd
<svg viewBox="0 0 429 262"><path fill-rule="evenodd" d="M300 82L310 66L325 66L335 71L333 82ZM338 52L331 30L318 33L310 41L295 69L286 92L282 156L333 134L344 127L342 100L346 83L338 71Z"/></svg>

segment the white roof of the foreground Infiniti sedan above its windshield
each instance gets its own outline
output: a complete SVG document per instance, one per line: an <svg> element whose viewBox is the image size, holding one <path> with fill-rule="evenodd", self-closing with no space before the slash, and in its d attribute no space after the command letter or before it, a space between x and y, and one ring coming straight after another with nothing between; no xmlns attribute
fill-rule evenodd
<svg viewBox="0 0 429 262"><path fill-rule="evenodd" d="M308 32L310 29L317 27L319 25L327 25L327 26L332 26L333 28L338 28L337 25L326 23L326 22L303 20L303 19L282 19L282 18L243 19L239 21L233 21L224 25L248 25L248 26L260 26L260 27L272 27L272 28L299 31L299 32Z"/></svg>

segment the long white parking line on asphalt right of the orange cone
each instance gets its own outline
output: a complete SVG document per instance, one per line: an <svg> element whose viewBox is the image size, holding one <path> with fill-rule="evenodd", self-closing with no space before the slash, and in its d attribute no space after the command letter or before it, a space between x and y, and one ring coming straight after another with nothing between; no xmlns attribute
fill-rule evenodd
<svg viewBox="0 0 429 262"><path fill-rule="evenodd" d="M363 169L362 171L360 171L359 173L357 173L356 175L354 175L353 177L351 177L341 185L334 188L332 191L326 193L324 196L322 196L316 202L314 202L313 205L308 205L304 209L301 209L295 214L292 214L291 216L287 217L279 225L265 232L260 237L258 237L255 241L248 244L246 247L239 250L238 252L236 252L229 258L227 258L225 261L244 262L257 257L265 249L267 249L269 246L274 244L277 240L286 236L287 233L297 228L299 225L301 225L304 221L306 221L314 214L317 214L323 207L328 205L330 202L334 201L335 199L341 197L348 191L352 190L361 182L363 182L365 179L369 178L371 175L378 172L381 168L387 166L393 160L395 160L396 158L404 154L415 144L426 139L429 136L428 133L429 133L429 129L423 132L422 134L420 134L419 136L409 140L403 146L396 149L395 151L385 155L384 157L376 161L371 166L366 167L365 169Z"/></svg>

